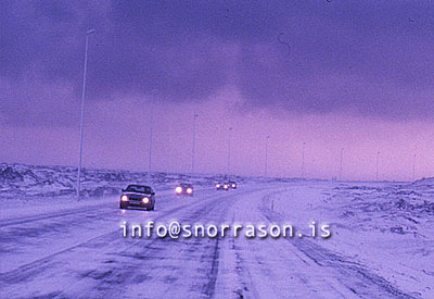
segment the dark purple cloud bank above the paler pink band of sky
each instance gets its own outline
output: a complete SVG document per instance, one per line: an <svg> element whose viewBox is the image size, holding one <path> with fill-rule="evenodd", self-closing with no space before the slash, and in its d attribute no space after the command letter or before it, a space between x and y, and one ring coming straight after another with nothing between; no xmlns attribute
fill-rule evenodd
<svg viewBox="0 0 434 299"><path fill-rule="evenodd" d="M76 116L87 28L97 29L90 101L200 101L232 85L251 108L395 120L434 112L430 1L2 1L0 10L0 109L10 123Z"/></svg>

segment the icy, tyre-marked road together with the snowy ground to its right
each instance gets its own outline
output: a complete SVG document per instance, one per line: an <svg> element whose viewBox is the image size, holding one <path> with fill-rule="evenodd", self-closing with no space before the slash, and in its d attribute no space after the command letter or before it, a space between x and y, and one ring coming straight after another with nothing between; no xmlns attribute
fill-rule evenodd
<svg viewBox="0 0 434 299"><path fill-rule="evenodd" d="M413 188L413 189L411 189ZM0 298L434 298L431 190L320 182L3 207ZM10 202L10 201L9 201ZM290 222L311 237L123 238L120 224Z"/></svg>

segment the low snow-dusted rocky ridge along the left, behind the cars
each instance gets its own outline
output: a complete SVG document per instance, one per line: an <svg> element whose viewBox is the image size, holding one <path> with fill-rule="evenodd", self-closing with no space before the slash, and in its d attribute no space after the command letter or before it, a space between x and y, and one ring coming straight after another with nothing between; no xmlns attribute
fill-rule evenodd
<svg viewBox="0 0 434 299"><path fill-rule="evenodd" d="M231 176L238 183L263 180ZM152 173L151 184L162 190L179 182L195 186L213 186L222 175ZM0 198L33 198L71 196L76 192L77 169L71 166L34 166L0 163ZM127 184L148 183L146 172L85 169L81 174L84 197L116 195Z"/></svg>

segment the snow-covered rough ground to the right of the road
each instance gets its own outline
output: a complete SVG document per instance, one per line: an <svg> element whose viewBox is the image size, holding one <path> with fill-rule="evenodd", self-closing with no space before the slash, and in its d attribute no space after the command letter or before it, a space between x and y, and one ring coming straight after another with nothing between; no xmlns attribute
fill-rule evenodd
<svg viewBox="0 0 434 299"><path fill-rule="evenodd" d="M382 288L391 298L434 298L433 182L309 184L289 187L263 204L273 207L270 219L328 220L332 238L294 245L316 263L346 273L341 282L357 297L382 298Z"/></svg>

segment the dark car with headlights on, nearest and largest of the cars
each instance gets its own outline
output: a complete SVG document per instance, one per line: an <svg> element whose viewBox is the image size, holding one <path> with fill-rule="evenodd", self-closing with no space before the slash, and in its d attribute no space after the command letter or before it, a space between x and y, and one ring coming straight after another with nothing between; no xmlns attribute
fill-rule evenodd
<svg viewBox="0 0 434 299"><path fill-rule="evenodd" d="M155 192L150 186L128 185L128 187L122 191L120 209L137 207L144 208L146 210L154 210Z"/></svg>

